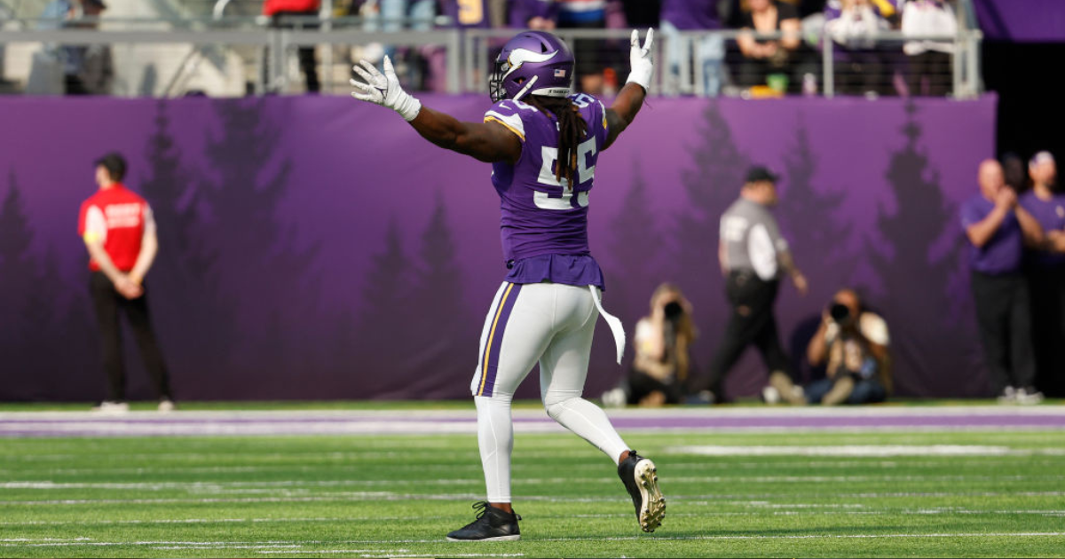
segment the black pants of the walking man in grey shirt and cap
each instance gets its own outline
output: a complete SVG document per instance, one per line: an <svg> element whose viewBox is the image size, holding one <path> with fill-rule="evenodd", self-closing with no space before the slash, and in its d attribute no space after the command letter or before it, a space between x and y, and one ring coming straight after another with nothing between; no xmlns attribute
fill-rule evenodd
<svg viewBox="0 0 1065 559"><path fill-rule="evenodd" d="M725 398L725 375L739 361L751 344L761 354L769 372L780 371L791 376L788 357L781 346L773 316L773 303L780 281L764 281L753 272L732 272L725 284L725 294L732 306L724 340L710 362L710 392L718 401Z"/></svg>

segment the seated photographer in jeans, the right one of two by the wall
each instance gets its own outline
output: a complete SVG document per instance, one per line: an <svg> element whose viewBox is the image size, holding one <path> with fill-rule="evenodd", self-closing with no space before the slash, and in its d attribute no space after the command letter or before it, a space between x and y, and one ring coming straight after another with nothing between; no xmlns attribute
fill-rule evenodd
<svg viewBox="0 0 1065 559"><path fill-rule="evenodd" d="M806 387L806 398L824 406L884 401L891 392L888 342L887 323L863 309L853 290L839 290L806 348L809 363L826 364L828 375Z"/></svg>

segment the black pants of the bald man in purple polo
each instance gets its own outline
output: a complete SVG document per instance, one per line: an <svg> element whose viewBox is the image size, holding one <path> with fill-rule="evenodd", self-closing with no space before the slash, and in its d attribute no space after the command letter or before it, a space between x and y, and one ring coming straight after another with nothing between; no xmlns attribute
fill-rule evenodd
<svg viewBox="0 0 1065 559"><path fill-rule="evenodd" d="M1006 387L1030 388L1035 381L1032 313L1028 283L1020 274L972 273L972 295L984 357L996 393Z"/></svg>

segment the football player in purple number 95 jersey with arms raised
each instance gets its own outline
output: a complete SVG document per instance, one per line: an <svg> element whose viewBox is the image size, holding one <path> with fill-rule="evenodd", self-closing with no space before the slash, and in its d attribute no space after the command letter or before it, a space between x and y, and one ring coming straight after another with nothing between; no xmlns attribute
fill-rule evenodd
<svg viewBox="0 0 1065 559"><path fill-rule="evenodd" d="M355 67L364 80L351 80L356 99L392 109L442 148L491 163L499 196L509 273L485 320L471 382L488 498L474 505L477 520L448 540L521 538L510 498L510 402L537 362L547 414L615 461L641 529L661 524L666 503L654 462L627 446L603 410L581 397L600 315L615 334L619 363L624 349L621 322L603 309L603 273L588 248L588 205L599 153L643 104L654 69L652 42L653 31L642 47L633 32L628 81L606 109L593 97L573 95L574 59L566 43L542 31L519 33L496 57L489 82L494 104L484 122L423 106L399 86L387 57L383 75L365 61Z"/></svg>

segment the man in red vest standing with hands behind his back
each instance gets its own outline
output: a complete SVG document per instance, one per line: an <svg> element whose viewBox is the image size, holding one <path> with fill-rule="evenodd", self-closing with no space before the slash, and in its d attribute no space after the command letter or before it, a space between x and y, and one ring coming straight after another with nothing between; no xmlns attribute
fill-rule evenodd
<svg viewBox="0 0 1065 559"><path fill-rule="evenodd" d="M126 368L118 325L125 313L159 394L159 411L174 410L163 355L155 343L145 297L144 277L159 251L155 220L144 198L126 188L126 160L108 153L95 162L100 190L81 204L78 234L88 249L89 291L96 307L108 374L108 399L94 408L103 413L129 411Z"/></svg>

